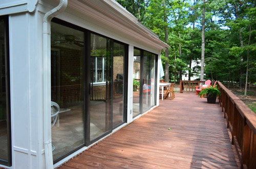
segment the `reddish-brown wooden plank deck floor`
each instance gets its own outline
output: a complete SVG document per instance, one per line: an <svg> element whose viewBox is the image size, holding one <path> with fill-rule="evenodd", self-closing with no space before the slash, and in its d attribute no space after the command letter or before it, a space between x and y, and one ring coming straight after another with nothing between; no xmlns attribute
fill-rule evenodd
<svg viewBox="0 0 256 169"><path fill-rule="evenodd" d="M59 168L239 168L220 105L175 95Z"/></svg>

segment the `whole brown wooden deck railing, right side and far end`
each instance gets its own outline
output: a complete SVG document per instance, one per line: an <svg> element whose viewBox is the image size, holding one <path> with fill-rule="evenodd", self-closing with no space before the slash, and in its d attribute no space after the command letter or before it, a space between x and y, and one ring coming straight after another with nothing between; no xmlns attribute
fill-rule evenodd
<svg viewBox="0 0 256 169"><path fill-rule="evenodd" d="M195 86L204 81L180 81L180 93L195 92ZM192 85L191 85L192 84ZM219 98L224 118L232 135L241 168L256 168L256 115L245 103L228 90L220 81Z"/></svg>

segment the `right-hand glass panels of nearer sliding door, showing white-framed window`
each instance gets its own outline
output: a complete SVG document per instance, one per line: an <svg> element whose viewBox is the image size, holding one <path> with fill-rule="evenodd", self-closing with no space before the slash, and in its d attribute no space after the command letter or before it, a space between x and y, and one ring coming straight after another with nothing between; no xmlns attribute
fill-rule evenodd
<svg viewBox="0 0 256 169"><path fill-rule="evenodd" d="M124 123L125 46L90 34L90 142Z"/></svg>

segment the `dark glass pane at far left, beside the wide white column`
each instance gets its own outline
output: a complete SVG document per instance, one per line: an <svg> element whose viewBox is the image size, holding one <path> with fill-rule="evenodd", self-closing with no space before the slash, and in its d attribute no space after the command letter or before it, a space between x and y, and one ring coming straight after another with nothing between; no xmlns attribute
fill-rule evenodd
<svg viewBox="0 0 256 169"><path fill-rule="evenodd" d="M0 20L0 42L0 159L8 161L4 20Z"/></svg>

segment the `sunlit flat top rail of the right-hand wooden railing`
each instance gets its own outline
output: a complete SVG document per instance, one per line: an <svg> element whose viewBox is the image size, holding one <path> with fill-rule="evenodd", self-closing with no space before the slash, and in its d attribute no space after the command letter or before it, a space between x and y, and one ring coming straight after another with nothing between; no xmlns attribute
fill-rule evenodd
<svg viewBox="0 0 256 169"><path fill-rule="evenodd" d="M240 115L246 119L246 123L253 133L256 134L256 115L254 112L242 100L240 100L239 97L234 95L230 90L222 85L220 81L218 81L218 85L219 88L222 88L230 100L236 105Z"/></svg>

